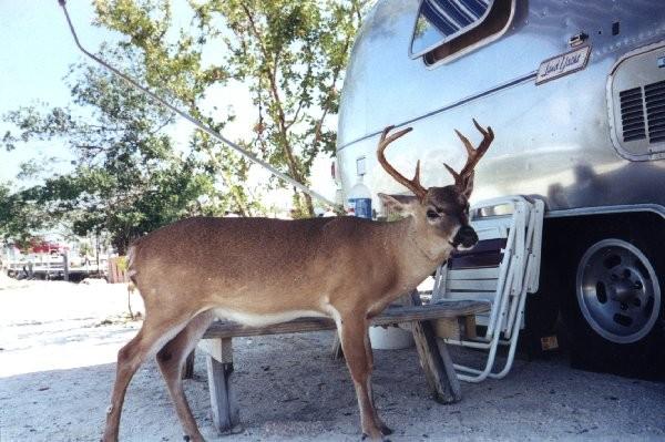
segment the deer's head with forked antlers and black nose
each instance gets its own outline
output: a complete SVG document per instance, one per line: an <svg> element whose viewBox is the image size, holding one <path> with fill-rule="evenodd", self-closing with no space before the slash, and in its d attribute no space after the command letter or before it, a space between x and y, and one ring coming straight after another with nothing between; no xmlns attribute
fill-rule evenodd
<svg viewBox="0 0 665 442"><path fill-rule="evenodd" d="M383 204L395 212L412 216L419 232L430 238L438 238L460 249L471 248L478 243L478 235L469 225L469 197L473 191L473 168L494 140L491 127L485 130L475 120L473 124L483 136L475 148L464 135L454 131L467 148L468 157L467 164L459 173L448 164L443 164L454 178L454 184L449 186L424 188L420 184L420 161L416 165L416 175L412 179L408 179L386 160L383 152L388 144L410 132L411 127L391 135L388 133L393 126L386 127L377 148L379 163L386 172L413 193L413 196L379 194Z"/></svg>

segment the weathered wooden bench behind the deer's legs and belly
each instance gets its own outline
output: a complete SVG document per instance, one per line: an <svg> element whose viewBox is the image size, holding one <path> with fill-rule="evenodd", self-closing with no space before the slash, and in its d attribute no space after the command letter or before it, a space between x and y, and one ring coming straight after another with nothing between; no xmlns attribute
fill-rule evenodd
<svg viewBox="0 0 665 442"><path fill-rule="evenodd" d="M489 310L488 302L460 300L438 305L421 305L415 292L402 297L402 307L390 307L372 319L372 326L411 323L411 332L428 386L436 401L452 403L461 399L460 384L446 345L437 342L431 320L448 321L456 326L464 318ZM233 388L233 338L335 330L335 321L327 318L301 318L265 327L246 327L236 322L215 321L198 343L206 354L208 388L213 422L221 433L234 432L239 424L239 408Z"/></svg>

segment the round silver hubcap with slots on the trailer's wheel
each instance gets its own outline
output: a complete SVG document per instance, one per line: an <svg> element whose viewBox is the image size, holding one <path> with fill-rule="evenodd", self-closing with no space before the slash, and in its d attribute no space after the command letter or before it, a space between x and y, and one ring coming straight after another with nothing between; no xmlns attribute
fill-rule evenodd
<svg viewBox="0 0 665 442"><path fill-rule="evenodd" d="M584 319L610 341L638 341L658 319L656 271L637 247L622 239L604 239L586 250L577 267L576 291Z"/></svg>

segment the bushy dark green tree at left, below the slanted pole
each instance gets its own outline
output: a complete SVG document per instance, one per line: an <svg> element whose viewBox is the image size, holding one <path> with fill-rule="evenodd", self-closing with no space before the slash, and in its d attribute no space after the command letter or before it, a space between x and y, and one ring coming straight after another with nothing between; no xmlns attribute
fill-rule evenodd
<svg viewBox="0 0 665 442"><path fill-rule="evenodd" d="M108 50L105 55L141 74L133 51ZM29 106L6 115L20 130L18 135L4 135L6 148L35 138L62 138L76 157L73 172L52 175L29 193L9 197L8 217L25 218L10 203L30 196L33 206L78 235L108 232L122 254L146 232L185 216L219 214L228 206L225 194L214 187L207 163L195 150L178 153L163 133L173 120L170 113L100 68L74 66L70 81L78 113Z"/></svg>

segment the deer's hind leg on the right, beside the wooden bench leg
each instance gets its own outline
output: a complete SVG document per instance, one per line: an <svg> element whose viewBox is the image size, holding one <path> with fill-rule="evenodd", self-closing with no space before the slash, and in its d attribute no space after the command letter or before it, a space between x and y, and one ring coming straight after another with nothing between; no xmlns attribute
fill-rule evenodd
<svg viewBox="0 0 665 442"><path fill-rule="evenodd" d="M198 425L196 424L196 420L192 414L187 398L185 397L182 371L187 354L194 349L196 342L198 342L214 319L215 316L211 310L195 316L175 338L168 341L168 343L157 352L160 370L166 381L166 387L168 388L171 400L175 405L177 418L185 431L185 439L196 442L203 441L203 436L198 431Z"/></svg>

